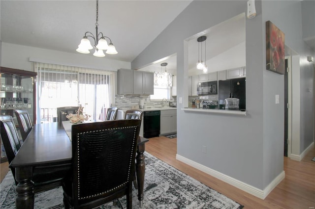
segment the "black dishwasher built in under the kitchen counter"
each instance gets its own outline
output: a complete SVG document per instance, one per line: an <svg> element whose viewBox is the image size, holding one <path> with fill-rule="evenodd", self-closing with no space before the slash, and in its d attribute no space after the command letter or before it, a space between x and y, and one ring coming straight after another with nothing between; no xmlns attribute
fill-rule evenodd
<svg viewBox="0 0 315 209"><path fill-rule="evenodd" d="M159 136L160 110L144 111L143 113L143 137L152 138Z"/></svg>

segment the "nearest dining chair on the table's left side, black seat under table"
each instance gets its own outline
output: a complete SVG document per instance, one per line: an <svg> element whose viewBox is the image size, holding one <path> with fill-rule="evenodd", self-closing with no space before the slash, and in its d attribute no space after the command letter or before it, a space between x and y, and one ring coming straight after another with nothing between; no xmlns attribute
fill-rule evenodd
<svg viewBox="0 0 315 209"><path fill-rule="evenodd" d="M0 134L4 151L10 164L23 144L19 140L12 116L0 115ZM32 182L34 183L35 193L61 186L63 177L68 171L62 167L54 170L54 166L34 167L33 170ZM13 174L15 184L17 185L18 182L15 179L15 169L11 168L11 172Z"/></svg>

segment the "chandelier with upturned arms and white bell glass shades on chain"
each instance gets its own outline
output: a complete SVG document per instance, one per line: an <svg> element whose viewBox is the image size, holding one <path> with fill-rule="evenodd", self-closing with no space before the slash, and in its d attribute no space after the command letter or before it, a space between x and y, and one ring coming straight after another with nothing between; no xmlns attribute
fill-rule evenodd
<svg viewBox="0 0 315 209"><path fill-rule="evenodd" d="M98 21L98 0L96 0L96 23L95 23L96 36L94 36L93 33L89 31L85 32L85 35L83 36L81 43L79 44L78 49L76 51L80 53L90 53L89 50L92 50L93 46L91 45L91 42L88 39L88 37L91 37L94 40L94 47L95 47L95 52L93 54L94 56L97 56L97 57L105 56L103 50L106 50L107 54L117 54L118 52L116 51L116 48L112 43L112 40L109 37L104 36L102 32L98 33L97 21ZM105 38L109 39L110 41L109 44L107 43Z"/></svg>

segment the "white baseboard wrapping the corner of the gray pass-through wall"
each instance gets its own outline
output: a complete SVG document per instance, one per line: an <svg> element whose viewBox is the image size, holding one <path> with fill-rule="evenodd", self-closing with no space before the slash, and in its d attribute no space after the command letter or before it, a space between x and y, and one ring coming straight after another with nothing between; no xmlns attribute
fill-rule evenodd
<svg viewBox="0 0 315 209"><path fill-rule="evenodd" d="M225 174L222 174L216 170L213 170L209 167L206 167L204 165L201 165L197 162L194 162L186 157L180 156L180 155L176 155L176 159L202 171L205 172L207 174L209 174L210 176L213 176L217 179L220 179L221 181L231 184L233 186L235 186L236 188L239 188L247 193L252 194L253 196L256 196L260 199L265 199L267 197L267 195L284 179L284 171L281 172L271 183L269 183L269 185L264 189L258 189L248 183L244 183L241 182L237 179L234 179L230 176L227 176Z"/></svg>

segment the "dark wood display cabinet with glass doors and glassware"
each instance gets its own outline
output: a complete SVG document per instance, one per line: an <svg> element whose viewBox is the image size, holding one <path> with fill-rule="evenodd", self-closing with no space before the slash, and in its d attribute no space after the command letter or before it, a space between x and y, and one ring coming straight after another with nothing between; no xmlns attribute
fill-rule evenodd
<svg viewBox="0 0 315 209"><path fill-rule="evenodd" d="M16 109L27 109L32 123L36 121L36 76L31 71L0 68L0 112L11 115L17 127ZM0 156L1 162L6 160L2 142Z"/></svg>

